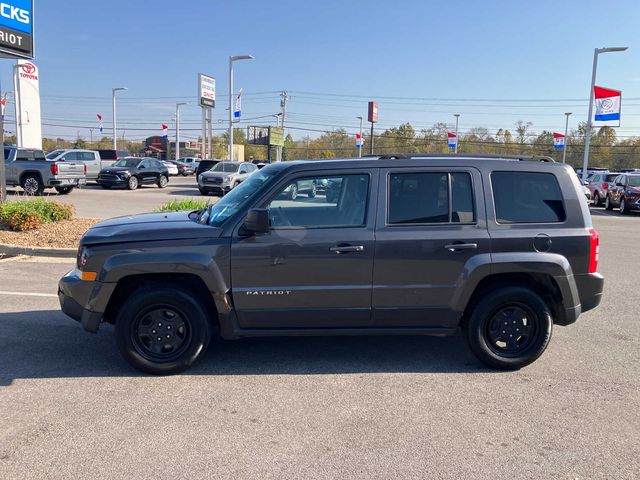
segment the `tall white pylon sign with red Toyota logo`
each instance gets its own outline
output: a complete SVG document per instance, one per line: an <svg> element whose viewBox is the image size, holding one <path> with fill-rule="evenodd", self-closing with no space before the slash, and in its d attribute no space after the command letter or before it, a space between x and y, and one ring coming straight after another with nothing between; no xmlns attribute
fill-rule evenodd
<svg viewBox="0 0 640 480"><path fill-rule="evenodd" d="M0 5L2 5L0 3ZM18 60L14 69L16 136L18 146L42 148L40 119L40 71L27 60Z"/></svg>

